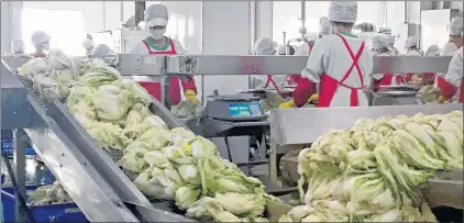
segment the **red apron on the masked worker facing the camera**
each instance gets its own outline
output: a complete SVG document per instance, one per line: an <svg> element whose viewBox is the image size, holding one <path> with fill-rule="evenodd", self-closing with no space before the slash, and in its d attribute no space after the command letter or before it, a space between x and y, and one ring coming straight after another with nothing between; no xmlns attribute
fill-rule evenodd
<svg viewBox="0 0 464 223"><path fill-rule="evenodd" d="M142 41L142 43L146 46L146 48L148 49L148 54L150 55L176 55L176 47L174 46L173 40L169 40L169 45L170 45L170 51L164 51L164 52L155 52L152 51L152 48L150 47L148 43L146 43L146 41ZM169 100L170 100L170 104L172 105L176 105L178 103L180 103L181 101L181 97L180 97L180 85L179 85L180 78L178 76L172 77L169 80ZM183 86L188 85L187 80L181 80ZM195 81L192 79L194 86L195 86ZM153 81L139 81L139 83L145 88L150 94L152 94L153 97L155 97L158 101L161 101L161 89L162 89L162 83L161 82L153 82Z"/></svg>

